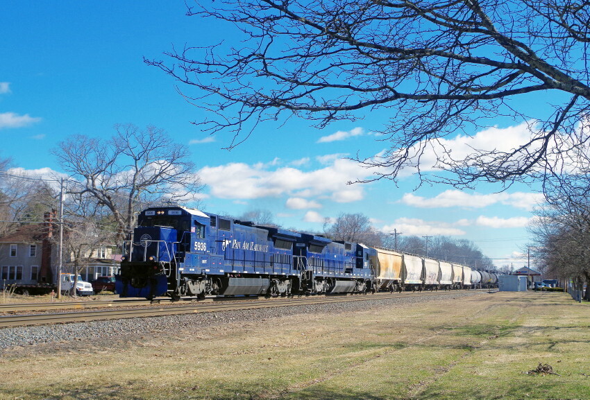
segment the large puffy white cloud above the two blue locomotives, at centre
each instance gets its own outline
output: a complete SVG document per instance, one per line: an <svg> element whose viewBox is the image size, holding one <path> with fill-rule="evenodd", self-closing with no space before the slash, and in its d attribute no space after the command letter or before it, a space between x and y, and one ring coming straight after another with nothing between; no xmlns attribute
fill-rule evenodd
<svg viewBox="0 0 590 400"><path fill-rule="evenodd" d="M371 171L348 159L333 159L332 163L314 171L270 164L230 163L201 168L199 176L218 198L255 199L280 197L330 198L336 202L362 200L366 185L348 185L362 179Z"/></svg>

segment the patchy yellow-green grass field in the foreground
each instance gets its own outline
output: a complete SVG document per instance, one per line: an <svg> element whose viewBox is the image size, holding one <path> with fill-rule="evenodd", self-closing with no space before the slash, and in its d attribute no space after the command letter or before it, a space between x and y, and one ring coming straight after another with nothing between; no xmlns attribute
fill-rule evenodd
<svg viewBox="0 0 590 400"><path fill-rule="evenodd" d="M590 304L484 293L13 349L0 399L590 399L589 356Z"/></svg>

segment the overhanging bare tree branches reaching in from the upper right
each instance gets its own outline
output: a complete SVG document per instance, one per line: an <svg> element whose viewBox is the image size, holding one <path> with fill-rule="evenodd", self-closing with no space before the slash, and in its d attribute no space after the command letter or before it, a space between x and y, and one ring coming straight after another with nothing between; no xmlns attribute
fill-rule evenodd
<svg viewBox="0 0 590 400"><path fill-rule="evenodd" d="M170 62L146 63L187 85L183 96L213 116L196 123L233 132L230 148L261 121L296 114L324 127L384 107L391 111L380 139L389 150L359 158L382 167L374 179L396 180L412 166L422 180L509 184L552 173L568 150L587 146L587 2L197 3L187 15L228 23L242 33L239 44L185 46L165 53ZM531 115L511 103L532 96L546 102ZM529 121L530 137L509 150L474 148L466 157L441 141L496 117ZM420 162L430 150L435 166L454 174L423 175Z"/></svg>

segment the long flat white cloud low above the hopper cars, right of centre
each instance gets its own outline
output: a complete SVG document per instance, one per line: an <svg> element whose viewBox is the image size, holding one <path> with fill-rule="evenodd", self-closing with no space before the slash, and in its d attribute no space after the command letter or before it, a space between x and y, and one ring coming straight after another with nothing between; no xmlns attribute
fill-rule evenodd
<svg viewBox="0 0 590 400"><path fill-rule="evenodd" d="M509 205L530 211L543 199L539 193L465 193L459 190L447 190L434 198L423 198L412 193L405 193L401 202L419 208L468 207L484 208L496 203Z"/></svg>

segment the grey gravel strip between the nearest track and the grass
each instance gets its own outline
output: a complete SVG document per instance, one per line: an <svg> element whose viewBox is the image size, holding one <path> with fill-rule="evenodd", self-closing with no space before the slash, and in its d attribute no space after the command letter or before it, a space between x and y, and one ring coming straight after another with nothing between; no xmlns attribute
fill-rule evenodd
<svg viewBox="0 0 590 400"><path fill-rule="evenodd" d="M350 313L393 304L414 304L440 299L460 299L461 297L473 295L488 295L488 293L458 292L396 299L371 299L360 302L269 307L253 310L219 311L215 313L165 315L162 317L126 318L121 320L42 325L38 327L5 328L0 329L0 349L31 347L44 343L69 342L70 340L112 340L121 336L130 337L144 335L150 332L170 333L187 328L204 329L220 324L251 323L256 320L280 318L285 315Z"/></svg>

